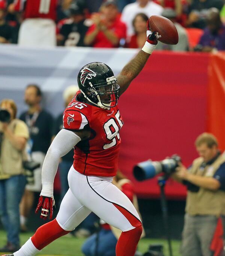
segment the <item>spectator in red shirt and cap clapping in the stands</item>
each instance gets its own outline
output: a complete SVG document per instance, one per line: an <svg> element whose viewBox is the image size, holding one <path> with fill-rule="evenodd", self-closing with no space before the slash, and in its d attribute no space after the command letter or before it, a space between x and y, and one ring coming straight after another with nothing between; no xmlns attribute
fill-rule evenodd
<svg viewBox="0 0 225 256"><path fill-rule="evenodd" d="M107 0L100 13L92 15L93 25L89 28L84 44L93 47L118 47L126 38L126 25L118 17L118 7L114 0Z"/></svg>

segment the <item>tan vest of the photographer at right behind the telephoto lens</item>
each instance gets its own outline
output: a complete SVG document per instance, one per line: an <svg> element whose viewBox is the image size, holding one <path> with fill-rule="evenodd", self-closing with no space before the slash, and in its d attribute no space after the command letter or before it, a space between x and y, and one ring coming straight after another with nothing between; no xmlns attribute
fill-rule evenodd
<svg viewBox="0 0 225 256"><path fill-rule="evenodd" d="M194 160L190 173L203 177L213 177L219 166L225 162L225 156L219 155L211 164L202 167L201 157ZM225 215L225 191L199 187L198 192L187 192L186 212L190 215Z"/></svg>

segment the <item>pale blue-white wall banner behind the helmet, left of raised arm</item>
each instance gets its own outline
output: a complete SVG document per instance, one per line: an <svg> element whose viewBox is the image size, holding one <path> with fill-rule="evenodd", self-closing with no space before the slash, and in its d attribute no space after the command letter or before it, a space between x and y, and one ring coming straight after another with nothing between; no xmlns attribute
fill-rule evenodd
<svg viewBox="0 0 225 256"><path fill-rule="evenodd" d="M89 62L104 62L117 75L137 51L89 47L34 49L0 45L0 101L13 99L21 113L27 109L23 101L24 89L28 84L38 84L43 91L43 107L56 116L64 108L63 90L77 84L81 67Z"/></svg>

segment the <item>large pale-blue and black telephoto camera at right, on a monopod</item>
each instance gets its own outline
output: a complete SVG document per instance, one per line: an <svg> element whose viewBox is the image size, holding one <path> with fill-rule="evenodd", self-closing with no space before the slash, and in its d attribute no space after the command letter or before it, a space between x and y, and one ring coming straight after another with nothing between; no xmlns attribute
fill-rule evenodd
<svg viewBox="0 0 225 256"><path fill-rule="evenodd" d="M179 162L181 162L181 157L179 155L172 155L159 162L147 160L134 166L133 175L138 181L153 178L161 172L169 177L175 172Z"/></svg>

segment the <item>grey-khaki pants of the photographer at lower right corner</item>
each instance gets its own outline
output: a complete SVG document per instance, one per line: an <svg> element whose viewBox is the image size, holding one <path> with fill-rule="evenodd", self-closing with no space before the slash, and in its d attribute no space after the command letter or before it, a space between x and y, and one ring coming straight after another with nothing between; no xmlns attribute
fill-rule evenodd
<svg viewBox="0 0 225 256"><path fill-rule="evenodd" d="M185 214L182 234L182 256L213 256L210 244L218 218L212 215L191 216Z"/></svg>

